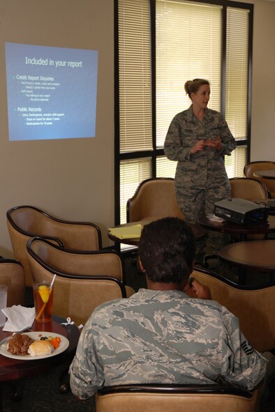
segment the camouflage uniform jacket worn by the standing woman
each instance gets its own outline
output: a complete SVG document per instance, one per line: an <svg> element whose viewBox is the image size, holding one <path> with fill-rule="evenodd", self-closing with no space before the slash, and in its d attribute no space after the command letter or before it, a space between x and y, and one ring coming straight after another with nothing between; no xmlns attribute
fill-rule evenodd
<svg viewBox="0 0 275 412"><path fill-rule="evenodd" d="M191 154L191 148L198 140L215 140L221 137L221 151L205 146L204 151ZM193 113L192 105L174 116L165 139L164 151L170 160L177 160L175 185L206 188L211 181L228 181L224 167L224 155L230 155L236 142L228 124L219 112L206 109L202 120Z"/></svg>

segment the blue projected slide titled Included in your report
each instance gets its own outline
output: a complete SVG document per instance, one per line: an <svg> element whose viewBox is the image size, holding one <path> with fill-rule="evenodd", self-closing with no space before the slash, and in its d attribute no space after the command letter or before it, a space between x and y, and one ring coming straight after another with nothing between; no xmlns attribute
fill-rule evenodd
<svg viewBox="0 0 275 412"><path fill-rule="evenodd" d="M98 51L6 43L10 141L94 137Z"/></svg>

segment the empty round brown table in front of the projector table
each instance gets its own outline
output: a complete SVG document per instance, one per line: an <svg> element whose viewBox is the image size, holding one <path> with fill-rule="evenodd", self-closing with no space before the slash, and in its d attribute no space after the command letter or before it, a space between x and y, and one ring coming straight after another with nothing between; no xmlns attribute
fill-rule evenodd
<svg viewBox="0 0 275 412"><path fill-rule="evenodd" d="M271 273L275 281L275 240L246 241L232 243L221 248L218 252L221 260L241 268L239 282L245 284L246 269Z"/></svg>

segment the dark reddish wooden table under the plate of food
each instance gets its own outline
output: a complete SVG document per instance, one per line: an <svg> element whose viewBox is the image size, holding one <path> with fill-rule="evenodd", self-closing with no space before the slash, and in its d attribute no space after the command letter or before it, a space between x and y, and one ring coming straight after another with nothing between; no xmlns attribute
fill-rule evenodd
<svg viewBox="0 0 275 412"><path fill-rule="evenodd" d="M38 332L52 332L64 335L68 341L69 346L66 351L59 353L59 355L52 356L50 358L38 359L38 360L18 360L13 358L6 358L6 356L0 355L0 385L1 382L18 381L28 376L34 376L52 369L55 365L64 362L65 360L73 360L75 350L77 348L77 342L80 337L80 330L75 325L61 325L66 323L66 319L54 316L52 322L38 323L34 321L31 331ZM27 333L27 332L26 332ZM9 335L13 335L12 332L3 332L0 328L0 340ZM0 386L1 396L1 386ZM1 402L1 398L0 398ZM1 411L0 404L0 411Z"/></svg>

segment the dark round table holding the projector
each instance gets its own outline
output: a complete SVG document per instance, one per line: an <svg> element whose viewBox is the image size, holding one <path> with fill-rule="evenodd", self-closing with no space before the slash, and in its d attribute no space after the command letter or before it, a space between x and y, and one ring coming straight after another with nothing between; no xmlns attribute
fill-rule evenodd
<svg viewBox="0 0 275 412"><path fill-rule="evenodd" d="M245 241L246 237L251 234L269 234L275 232L275 216L269 215L268 222L238 224L223 220L223 222L214 222L207 219L206 216L198 220L202 227L208 230L221 231L229 234L239 234L240 240Z"/></svg>

